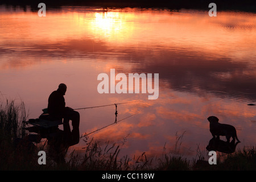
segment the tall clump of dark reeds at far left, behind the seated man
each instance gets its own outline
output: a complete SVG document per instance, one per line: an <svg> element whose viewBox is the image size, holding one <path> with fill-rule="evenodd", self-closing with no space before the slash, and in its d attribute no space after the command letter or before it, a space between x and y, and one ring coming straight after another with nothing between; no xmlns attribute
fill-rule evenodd
<svg viewBox="0 0 256 182"><path fill-rule="evenodd" d="M24 102L20 100L20 104L16 104L15 101L17 100L9 101L6 99L6 102L0 104L1 169L14 169L20 163L23 164L24 161L21 150L24 147L20 148L20 144L18 148L17 144L26 136L26 131L23 129L23 121L26 120L27 115Z"/></svg>

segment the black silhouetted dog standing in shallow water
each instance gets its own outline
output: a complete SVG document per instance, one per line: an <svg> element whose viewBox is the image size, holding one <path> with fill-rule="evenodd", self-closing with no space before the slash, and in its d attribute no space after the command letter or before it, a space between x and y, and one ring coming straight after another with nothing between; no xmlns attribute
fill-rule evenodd
<svg viewBox="0 0 256 182"><path fill-rule="evenodd" d="M233 138L232 142L235 139L240 142L237 138L237 131L234 126L219 123L218 118L215 116L210 116L207 119L210 122L210 133L212 133L213 138L215 138L216 135L217 139L220 139L221 135L226 137L227 142L230 141L230 137Z"/></svg>

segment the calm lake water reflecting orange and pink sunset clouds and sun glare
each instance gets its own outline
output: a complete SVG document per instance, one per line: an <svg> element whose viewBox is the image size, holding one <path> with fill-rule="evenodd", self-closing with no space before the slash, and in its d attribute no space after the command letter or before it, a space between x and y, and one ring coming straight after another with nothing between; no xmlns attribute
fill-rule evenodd
<svg viewBox="0 0 256 182"><path fill-rule="evenodd" d="M176 152L196 157L212 135L207 118L237 129L238 148L255 146L256 15L241 12L102 9L0 9L0 92L22 100L29 117L47 107L60 82L73 108L118 105L118 120L89 135L122 145L122 154L160 156ZM99 94L100 73L159 73L159 97ZM80 110L80 132L90 133L115 119L115 107ZM126 138L126 139L124 139ZM225 138L222 138L225 140ZM75 148L86 146L81 140Z"/></svg>

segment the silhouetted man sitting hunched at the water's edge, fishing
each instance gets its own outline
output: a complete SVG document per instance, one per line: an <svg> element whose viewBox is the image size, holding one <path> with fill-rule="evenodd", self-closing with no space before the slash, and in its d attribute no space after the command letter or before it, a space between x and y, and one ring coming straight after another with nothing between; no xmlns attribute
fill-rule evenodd
<svg viewBox="0 0 256 182"><path fill-rule="evenodd" d="M79 143L79 123L80 114L70 107L65 106L64 95L67 91L67 85L60 84L59 88L51 93L48 99L48 113L51 117L56 119L63 118L64 134L68 137L68 144L70 146ZM72 121L72 132L69 126L69 120Z"/></svg>

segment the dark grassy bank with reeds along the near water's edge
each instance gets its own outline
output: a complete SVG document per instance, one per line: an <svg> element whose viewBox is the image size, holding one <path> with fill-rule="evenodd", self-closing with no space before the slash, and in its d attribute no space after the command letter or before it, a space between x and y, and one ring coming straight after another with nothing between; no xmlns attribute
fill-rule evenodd
<svg viewBox="0 0 256 182"><path fill-rule="evenodd" d="M87 143L84 155L72 151L67 154L65 163L56 163L47 155L47 164L38 164L38 151L47 152L47 141L39 145L27 143L28 133L23 130L22 121L27 119L24 103L6 100L0 104L0 170L108 170L108 171L141 171L141 170L255 170L256 150L254 147L243 148L233 154L218 155L217 165L208 163L209 156L197 151L195 160L187 160L181 155L165 152L162 156L148 159L143 152L130 158L120 157L122 146L102 144L93 139ZM183 133L184 134L184 133ZM176 134L175 151L179 153L183 137ZM17 144L18 143L18 144ZM124 142L125 143L125 142ZM124 144L123 143L123 144ZM68 160L67 160L68 159Z"/></svg>

